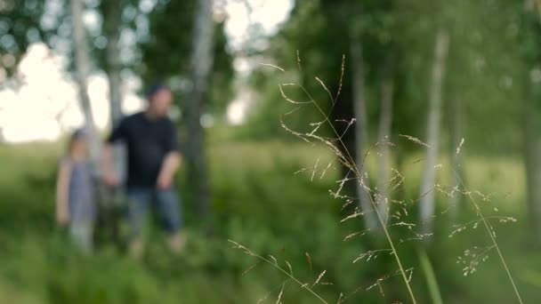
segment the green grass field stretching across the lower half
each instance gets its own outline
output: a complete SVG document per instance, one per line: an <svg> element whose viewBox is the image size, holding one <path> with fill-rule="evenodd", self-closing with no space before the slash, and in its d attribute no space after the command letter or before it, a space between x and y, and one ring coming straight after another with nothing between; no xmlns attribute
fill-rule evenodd
<svg viewBox="0 0 541 304"><path fill-rule="evenodd" d="M55 165L61 155L58 144L0 146L0 298L11 303L253 303L267 297L274 303L282 288L284 303L316 303L318 300L273 266L233 249L228 240L244 244L263 256L271 254L279 265L303 283L321 280L314 287L329 303L341 292L347 302L408 302L405 287L391 256L353 264L359 253L388 245L370 236L343 241L362 228L360 220L340 223L341 202L328 189L336 187L334 168L311 181L310 169L318 161L333 162L325 148L280 141L225 142L209 148L214 195L214 233L206 236L194 214L185 172L178 179L184 198L189 243L179 256L167 252L159 231L151 236L143 260L128 259L113 244L100 244L92 256L82 256L69 245L66 232L53 222ZM422 163L409 157L404 164L402 198L415 200ZM371 160L369 168L373 168ZM440 183L450 173L442 160ZM535 303L541 294L541 248L531 245L524 214L523 168L512 157L471 156L464 164L468 187L490 196L479 199L487 215L513 215L519 223L497 224L497 241L519 285L523 300ZM397 194L398 196L398 194ZM477 197L477 195L476 195ZM480 197L480 196L479 196ZM444 211L447 197L439 195ZM415 204L415 203L412 203ZM412 210L415 206L410 205ZM495 211L495 208L498 212ZM460 221L475 219L464 202ZM412 212L415 213L415 212ZM409 220L415 220L412 214ZM471 276L463 276L458 256L473 246L482 248L489 238L470 225L449 238L448 216L436 220L437 234L428 249L436 279L446 303L513 303L513 289L494 250ZM397 239L408 236L394 232ZM431 302L416 248L420 243L398 246L407 268L414 268L412 285L419 303ZM310 256L308 258L307 256ZM286 262L287 260L287 262ZM252 268L253 267L253 268ZM246 272L246 269L251 269ZM378 278L389 276L379 287L366 290ZM332 283L332 284L330 284ZM382 295L384 293L384 296Z"/></svg>

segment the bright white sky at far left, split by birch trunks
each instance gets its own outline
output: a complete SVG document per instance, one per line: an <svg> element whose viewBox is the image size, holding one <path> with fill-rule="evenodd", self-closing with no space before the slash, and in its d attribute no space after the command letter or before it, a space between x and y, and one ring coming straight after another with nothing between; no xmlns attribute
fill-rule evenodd
<svg viewBox="0 0 541 304"><path fill-rule="evenodd" d="M56 140L62 131L83 124L77 103L77 86L61 69L61 57L44 44L33 44L19 66L23 85L0 91L0 128L10 142ZM135 95L135 84L123 88L125 113L133 113L143 105ZM95 123L105 128L109 120L107 80L102 75L88 78Z"/></svg>

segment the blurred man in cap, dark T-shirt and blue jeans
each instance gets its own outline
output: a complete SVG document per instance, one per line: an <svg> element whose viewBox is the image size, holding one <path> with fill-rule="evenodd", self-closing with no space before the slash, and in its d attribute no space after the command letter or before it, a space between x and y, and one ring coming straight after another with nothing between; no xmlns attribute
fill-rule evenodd
<svg viewBox="0 0 541 304"><path fill-rule="evenodd" d="M130 253L141 256L149 207L157 209L168 244L174 252L182 249L179 199L174 190L174 173L181 164L174 123L167 117L173 93L165 85L154 85L147 94L148 107L127 116L110 134L103 149L103 176L117 186L113 171L112 143L122 140L127 148L126 196L131 228Z"/></svg>

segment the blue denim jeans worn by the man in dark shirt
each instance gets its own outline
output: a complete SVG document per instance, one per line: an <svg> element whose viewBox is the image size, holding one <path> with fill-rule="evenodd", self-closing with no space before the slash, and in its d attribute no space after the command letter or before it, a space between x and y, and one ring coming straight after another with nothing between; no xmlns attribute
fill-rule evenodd
<svg viewBox="0 0 541 304"><path fill-rule="evenodd" d="M180 199L174 189L159 190L157 188L127 188L127 212L131 234L134 239L140 238L147 226L149 207L156 208L162 227L170 235L181 228L182 216Z"/></svg>

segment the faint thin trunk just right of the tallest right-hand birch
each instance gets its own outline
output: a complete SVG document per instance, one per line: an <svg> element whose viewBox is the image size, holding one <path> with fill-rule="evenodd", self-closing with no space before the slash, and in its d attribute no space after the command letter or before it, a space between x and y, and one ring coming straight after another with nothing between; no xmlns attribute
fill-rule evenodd
<svg viewBox="0 0 541 304"><path fill-rule="evenodd" d="M449 198L449 213L451 220L455 221L458 212L460 211L461 203L464 199L464 187L461 185L461 180L464 182L464 148L461 147L464 139L464 109L463 102L460 98L453 100L451 104L451 187L454 189L453 196Z"/></svg>

